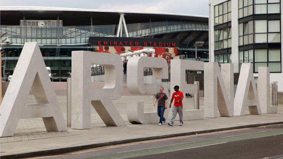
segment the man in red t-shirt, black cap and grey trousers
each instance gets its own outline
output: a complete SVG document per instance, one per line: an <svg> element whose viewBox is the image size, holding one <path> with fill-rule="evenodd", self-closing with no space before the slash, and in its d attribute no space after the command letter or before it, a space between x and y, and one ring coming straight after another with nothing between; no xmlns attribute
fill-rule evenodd
<svg viewBox="0 0 283 159"><path fill-rule="evenodd" d="M171 98L170 105L169 105L169 108L171 108L171 104L173 102L173 99L175 99L173 109L172 109L173 113L172 113L172 118L170 120L170 123L168 123L168 125L174 126L173 125L174 120L175 120L177 112L178 112L179 118L180 118L180 126L183 126L184 122L183 122L183 103L182 103L182 100L184 98L184 95L183 95L183 92L179 91L179 86L175 85L174 90L175 90L175 92L172 94L172 98Z"/></svg>

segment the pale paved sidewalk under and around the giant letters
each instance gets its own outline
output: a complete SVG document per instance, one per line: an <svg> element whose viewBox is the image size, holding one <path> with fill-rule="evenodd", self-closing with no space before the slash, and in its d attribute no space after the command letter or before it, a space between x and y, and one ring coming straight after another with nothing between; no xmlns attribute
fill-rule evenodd
<svg viewBox="0 0 283 159"><path fill-rule="evenodd" d="M57 98L66 120L66 96L57 96ZM167 123L162 126L158 126L158 124L134 125L129 123L126 116L126 102L143 101L145 103L145 112L151 112L153 110L152 99L152 96L122 96L119 100L113 100L112 102L116 109L124 121L126 121L127 125L122 127L106 127L93 108L91 129L86 130L69 128L68 131L64 132L47 132L41 118L21 119L14 136L0 139L0 155L4 157L11 154L37 156L66 153L79 149L138 140L219 131L222 129L247 127L248 125L283 123L283 105L278 107L277 114L248 115L248 108L246 108L245 116L189 120L184 122L183 127L179 127L177 121L174 127L168 126ZM29 95L27 103L34 102L34 96ZM203 109L203 103L203 99L200 99L200 109ZM186 109L193 109L193 98L187 98Z"/></svg>

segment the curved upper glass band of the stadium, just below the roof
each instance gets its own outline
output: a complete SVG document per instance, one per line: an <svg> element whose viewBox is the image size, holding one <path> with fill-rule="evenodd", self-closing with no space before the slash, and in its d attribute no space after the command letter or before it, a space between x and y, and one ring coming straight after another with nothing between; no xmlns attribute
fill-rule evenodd
<svg viewBox="0 0 283 159"><path fill-rule="evenodd" d="M129 37L144 37L177 31L208 31L208 24L191 22L153 22L126 24ZM22 26L1 25L1 34L7 36L14 44L37 41L43 45L88 44L90 36L116 36L117 25L88 26ZM125 36L123 34L123 36Z"/></svg>

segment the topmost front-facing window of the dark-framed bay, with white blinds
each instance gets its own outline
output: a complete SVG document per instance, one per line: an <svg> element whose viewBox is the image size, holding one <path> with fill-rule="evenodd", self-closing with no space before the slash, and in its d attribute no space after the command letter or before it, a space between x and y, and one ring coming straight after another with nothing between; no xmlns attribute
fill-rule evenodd
<svg viewBox="0 0 283 159"><path fill-rule="evenodd" d="M280 0L255 0L255 14L280 13Z"/></svg>

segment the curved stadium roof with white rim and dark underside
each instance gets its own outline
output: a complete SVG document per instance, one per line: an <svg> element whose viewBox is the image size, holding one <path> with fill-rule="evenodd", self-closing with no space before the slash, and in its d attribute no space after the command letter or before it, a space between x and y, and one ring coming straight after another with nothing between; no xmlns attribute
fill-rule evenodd
<svg viewBox="0 0 283 159"><path fill-rule="evenodd" d="M192 21L208 23L208 16L175 14L162 12L137 12L122 10L95 10L59 7L1 6L1 25L19 25L25 16L26 20L63 20L66 26L71 25L110 25L119 23L120 14L125 14L126 23L146 23L157 21Z"/></svg>

